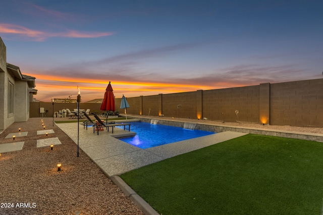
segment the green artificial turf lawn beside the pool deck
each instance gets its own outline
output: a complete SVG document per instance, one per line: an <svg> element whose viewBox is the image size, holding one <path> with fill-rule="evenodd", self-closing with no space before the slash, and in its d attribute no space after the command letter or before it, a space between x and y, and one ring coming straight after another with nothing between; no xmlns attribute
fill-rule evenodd
<svg viewBox="0 0 323 215"><path fill-rule="evenodd" d="M121 175L158 213L321 214L321 142L247 134Z"/></svg>

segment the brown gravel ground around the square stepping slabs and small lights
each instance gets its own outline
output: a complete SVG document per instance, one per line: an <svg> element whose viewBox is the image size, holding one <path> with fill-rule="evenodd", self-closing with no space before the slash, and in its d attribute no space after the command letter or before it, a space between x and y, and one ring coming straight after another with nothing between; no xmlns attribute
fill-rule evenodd
<svg viewBox="0 0 323 215"><path fill-rule="evenodd" d="M41 118L30 118L0 134L0 144L25 141L21 151L0 156L0 214L143 214L83 151L77 157L77 145L52 126L52 118L43 120L46 129L55 133L37 135ZM28 135L5 138L19 127ZM50 137L58 137L62 145L53 151L36 149L37 139ZM58 163L62 163L60 172ZM12 207L4 208L8 203Z"/></svg>

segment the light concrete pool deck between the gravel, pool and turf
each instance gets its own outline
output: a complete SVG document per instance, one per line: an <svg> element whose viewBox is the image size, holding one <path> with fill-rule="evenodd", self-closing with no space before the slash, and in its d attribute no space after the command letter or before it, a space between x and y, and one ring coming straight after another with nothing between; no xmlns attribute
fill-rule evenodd
<svg viewBox="0 0 323 215"><path fill-rule="evenodd" d="M77 144L77 123L57 123ZM84 129L79 124L79 148L109 177L138 169L148 164L156 163L177 155L218 144L246 133L225 131L207 136L173 142L149 149L140 149L114 136L127 135L131 131L115 128L112 131L100 131L99 135L93 129Z"/></svg>

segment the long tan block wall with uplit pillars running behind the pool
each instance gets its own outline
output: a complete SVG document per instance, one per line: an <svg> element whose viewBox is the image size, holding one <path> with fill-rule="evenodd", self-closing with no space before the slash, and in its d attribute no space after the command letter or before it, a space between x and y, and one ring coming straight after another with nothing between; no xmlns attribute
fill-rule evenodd
<svg viewBox="0 0 323 215"><path fill-rule="evenodd" d="M127 113L135 115L323 127L323 79L140 96L127 101ZM116 109L120 109L120 102L121 98L116 99ZM181 108L177 108L179 104Z"/></svg>

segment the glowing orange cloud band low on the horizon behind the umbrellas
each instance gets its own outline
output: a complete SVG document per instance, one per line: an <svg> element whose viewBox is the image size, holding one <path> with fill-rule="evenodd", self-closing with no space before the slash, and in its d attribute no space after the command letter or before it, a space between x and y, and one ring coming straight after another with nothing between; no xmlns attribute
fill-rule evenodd
<svg viewBox="0 0 323 215"><path fill-rule="evenodd" d="M127 97L156 95L160 93L178 93L196 91L199 89L210 89L210 86L157 83L157 82L125 82L118 80L97 80L70 77L56 77L50 75L26 74L36 78L36 89L38 90L36 99L47 101L51 97L67 98L69 95L76 97L77 86L80 87L82 101L102 98L109 81L116 98L121 98L122 94ZM49 99L48 99L49 98Z"/></svg>

